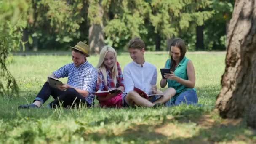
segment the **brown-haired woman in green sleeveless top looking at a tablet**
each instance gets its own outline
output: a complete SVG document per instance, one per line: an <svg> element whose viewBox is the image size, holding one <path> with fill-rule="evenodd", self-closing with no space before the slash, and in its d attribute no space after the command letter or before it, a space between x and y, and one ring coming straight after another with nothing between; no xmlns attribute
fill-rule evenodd
<svg viewBox="0 0 256 144"><path fill-rule="evenodd" d="M192 61L185 57L187 48L184 41L174 38L171 42L169 56L165 62L165 68L171 73L165 73L160 81L161 88L168 83L168 88L174 88L176 94L165 103L166 106L185 104L196 104L198 102L195 91L195 69Z"/></svg>

